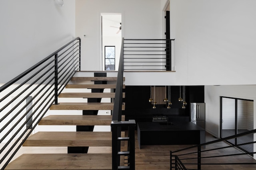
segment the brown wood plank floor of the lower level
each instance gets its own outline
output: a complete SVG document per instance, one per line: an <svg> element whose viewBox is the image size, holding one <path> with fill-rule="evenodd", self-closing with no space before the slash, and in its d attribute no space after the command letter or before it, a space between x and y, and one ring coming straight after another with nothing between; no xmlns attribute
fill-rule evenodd
<svg viewBox="0 0 256 170"><path fill-rule="evenodd" d="M136 154L136 170L170 170L170 150L178 150L190 145L151 145L138 147L137 134L135 136L135 154ZM216 140L210 134L206 134L206 142ZM213 149L216 147L228 146L227 143L222 142L206 147L206 149ZM125 149L123 149L125 150ZM111 147L90 147L89 153L111 153ZM67 147L22 147L18 154L22 153L67 153ZM235 154L241 153L238 149L225 149L220 151L202 152L202 156L220 155L220 154ZM206 162L212 162L215 159L208 159ZM237 160L244 162L256 162L248 155L231 156L230 158L216 158L216 162L236 162ZM187 168L196 169L194 166L187 166ZM256 165L202 165L202 170L255 170Z"/></svg>

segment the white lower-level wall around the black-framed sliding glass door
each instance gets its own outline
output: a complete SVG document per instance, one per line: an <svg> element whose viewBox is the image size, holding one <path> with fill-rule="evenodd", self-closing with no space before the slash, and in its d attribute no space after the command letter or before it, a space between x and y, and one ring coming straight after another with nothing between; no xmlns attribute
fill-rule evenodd
<svg viewBox="0 0 256 170"><path fill-rule="evenodd" d="M206 131L220 136L220 96L254 100L256 108L256 85L205 86ZM253 110L254 129L256 129L256 110Z"/></svg>

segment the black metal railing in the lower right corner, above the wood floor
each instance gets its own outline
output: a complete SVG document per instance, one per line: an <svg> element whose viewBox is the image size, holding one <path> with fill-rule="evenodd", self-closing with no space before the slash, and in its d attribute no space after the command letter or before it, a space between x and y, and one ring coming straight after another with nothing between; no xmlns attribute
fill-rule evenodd
<svg viewBox="0 0 256 170"><path fill-rule="evenodd" d="M202 149L202 147L206 147L208 145L211 145L211 144L215 144L215 143L219 143L219 142L224 142L224 141L228 141L230 139L236 139L236 138L239 138L239 137L243 137L243 136L246 136L246 135L250 135L250 134L254 134L256 133L256 129L254 130L251 130L251 131L247 131L247 132L244 132L244 133L240 133L240 134L237 134L237 135L232 135L232 136L229 136L229 137L225 137L225 138L222 138L222 139L217 139L215 141L210 141L210 142L207 142L207 143L202 143L200 145L194 145L194 146L191 146L191 147L187 147L187 148L184 148L184 149L180 149L180 150L176 150L176 151L170 151L170 170L172 169L175 169L175 170L187 170L187 168L185 168L185 165L186 166L196 166L194 168L189 168L190 170L201 170L201 166L202 165L256 165L256 161L254 162L214 162L214 158L219 158L219 157L228 157L228 156L239 156L239 155L246 155L246 154L256 154L256 152L240 152L240 153L235 153L235 154L225 154L225 152L223 152L224 154L217 154L217 155L212 155L212 156L202 156L202 153L204 152L207 152L208 154L210 154L210 151L216 151L216 150L221 150L221 149L228 149L228 148L232 148L232 147L239 147L239 146L242 146L242 145L249 145L249 144L253 144L253 143L256 143L256 141L253 141L253 142L247 142L247 143L240 143L240 144L237 144L237 145L229 145L229 146L226 146L226 147L219 147L219 148L214 148L214 149ZM196 149L196 150L193 150L193 151L190 151L190 152L185 152L185 151L188 151L190 149ZM183 152L183 153L180 153L178 154L178 152ZM174 153L176 153L176 155L174 155ZM181 158L182 156L185 156L184 158ZM203 160L206 160L206 159L211 159L210 162L207 162L207 163L203 163ZM193 162L194 160L194 162ZM237 159L238 160L238 159ZM182 161L190 161L190 162L182 162ZM173 166L174 164L174 166Z"/></svg>

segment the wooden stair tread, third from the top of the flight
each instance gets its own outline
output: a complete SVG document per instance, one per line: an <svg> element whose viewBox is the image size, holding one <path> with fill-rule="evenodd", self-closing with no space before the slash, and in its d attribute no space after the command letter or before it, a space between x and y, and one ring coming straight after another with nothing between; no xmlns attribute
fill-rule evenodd
<svg viewBox="0 0 256 170"><path fill-rule="evenodd" d="M77 93L77 92L66 92L61 93L59 98L114 98L115 93ZM125 93L123 93L125 98Z"/></svg>

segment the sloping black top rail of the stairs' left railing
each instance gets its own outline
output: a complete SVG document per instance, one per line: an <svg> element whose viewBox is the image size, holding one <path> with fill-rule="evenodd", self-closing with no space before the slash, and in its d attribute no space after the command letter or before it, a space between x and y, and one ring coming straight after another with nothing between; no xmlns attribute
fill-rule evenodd
<svg viewBox="0 0 256 170"><path fill-rule="evenodd" d="M26 74L28 74L29 72L31 72L32 70L34 70L35 68L37 68L38 66L40 66L42 63L46 62L48 59L50 59L52 56L54 56L55 54L57 54L59 51L61 51L62 49L64 49L65 47L67 47L68 45L70 45L71 43L73 43L74 41L80 39L80 37L76 37L75 39L73 39L72 41L70 41L69 43L67 43L66 45L64 45L63 47L61 47L60 49L58 49L57 51L55 51L54 53L50 54L48 57L44 58L43 60L41 60L40 62L38 62L37 64L35 64L34 66L28 68L26 71L22 72L21 74L19 74L18 76L16 76L15 78L13 78L12 80L10 80L9 82L5 83L3 86L0 87L0 92L2 92L3 90L5 90L6 88L8 88L10 85L14 84L15 82L17 82L18 80L20 80L22 77L24 77Z"/></svg>

